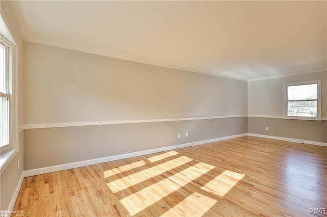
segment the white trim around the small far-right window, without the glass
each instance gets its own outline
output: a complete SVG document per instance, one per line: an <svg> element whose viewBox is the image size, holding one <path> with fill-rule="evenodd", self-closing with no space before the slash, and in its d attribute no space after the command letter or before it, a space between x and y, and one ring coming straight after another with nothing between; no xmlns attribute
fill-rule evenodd
<svg viewBox="0 0 327 217"><path fill-rule="evenodd" d="M287 116L287 87L298 85L313 85L317 84L317 117L297 117ZM292 82L283 84L283 119L293 120L314 120L321 121L321 80L306 80L303 82Z"/></svg>

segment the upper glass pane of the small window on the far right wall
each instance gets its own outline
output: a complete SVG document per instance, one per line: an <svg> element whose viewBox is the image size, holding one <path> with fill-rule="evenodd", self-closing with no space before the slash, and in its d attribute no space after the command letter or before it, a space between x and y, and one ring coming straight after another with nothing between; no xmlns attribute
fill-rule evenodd
<svg viewBox="0 0 327 217"><path fill-rule="evenodd" d="M317 99L317 84L287 87L288 100Z"/></svg>

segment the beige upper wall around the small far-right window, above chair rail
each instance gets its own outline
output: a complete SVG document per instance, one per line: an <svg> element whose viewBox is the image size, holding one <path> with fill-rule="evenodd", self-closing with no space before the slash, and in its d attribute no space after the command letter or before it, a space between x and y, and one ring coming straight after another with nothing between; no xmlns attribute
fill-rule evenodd
<svg viewBox="0 0 327 217"><path fill-rule="evenodd" d="M322 117L327 117L327 72L302 74L248 83L248 114L283 116L283 84L321 79Z"/></svg>

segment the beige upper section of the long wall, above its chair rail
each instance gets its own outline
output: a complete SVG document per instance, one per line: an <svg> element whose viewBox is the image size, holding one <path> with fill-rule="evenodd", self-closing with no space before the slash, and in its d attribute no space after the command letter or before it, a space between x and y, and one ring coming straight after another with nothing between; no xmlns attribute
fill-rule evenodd
<svg viewBox="0 0 327 217"><path fill-rule="evenodd" d="M25 124L247 114L247 83L24 42Z"/></svg>

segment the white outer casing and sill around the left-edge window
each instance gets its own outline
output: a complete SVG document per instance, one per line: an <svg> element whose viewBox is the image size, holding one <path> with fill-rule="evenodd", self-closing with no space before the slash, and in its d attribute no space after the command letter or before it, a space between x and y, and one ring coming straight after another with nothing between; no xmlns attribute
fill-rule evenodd
<svg viewBox="0 0 327 217"><path fill-rule="evenodd" d="M10 100L10 121L9 121L9 141L10 144L0 148L0 175L8 167L11 160L15 157L19 151L19 137L18 137L18 57L19 57L19 47L16 43L15 36L12 34L12 30L8 25L8 20L1 9L0 21L3 26L7 27L9 31L9 36L12 38L7 38L5 35L0 33L1 41L11 47L11 100ZM8 35L8 31L6 34Z"/></svg>

